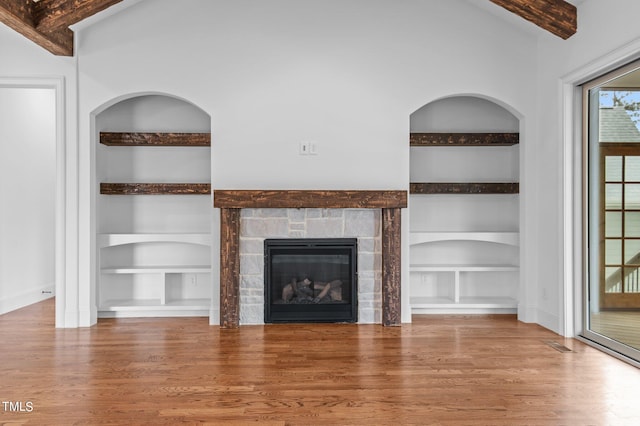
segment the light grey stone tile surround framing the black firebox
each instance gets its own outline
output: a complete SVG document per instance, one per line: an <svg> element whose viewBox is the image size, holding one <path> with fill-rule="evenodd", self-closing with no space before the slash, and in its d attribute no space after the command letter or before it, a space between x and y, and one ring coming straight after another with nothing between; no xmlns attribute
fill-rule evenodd
<svg viewBox="0 0 640 426"><path fill-rule="evenodd" d="M357 238L357 295L349 300L349 304L357 304L357 322L380 323L380 228L380 211L375 209L242 209L240 324L265 322L264 242L274 238L285 241L291 241L292 238L330 238L334 242L343 238ZM352 284L355 283L350 282L349 286ZM311 310L315 308L310 307Z"/></svg>

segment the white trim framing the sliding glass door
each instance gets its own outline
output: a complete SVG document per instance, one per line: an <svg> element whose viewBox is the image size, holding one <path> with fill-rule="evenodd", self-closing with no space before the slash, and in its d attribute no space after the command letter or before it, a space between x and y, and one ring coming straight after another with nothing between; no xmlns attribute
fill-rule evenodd
<svg viewBox="0 0 640 426"><path fill-rule="evenodd" d="M577 336L583 328L582 103L579 86L640 57L640 39L591 61L561 78L563 288L561 334Z"/></svg>

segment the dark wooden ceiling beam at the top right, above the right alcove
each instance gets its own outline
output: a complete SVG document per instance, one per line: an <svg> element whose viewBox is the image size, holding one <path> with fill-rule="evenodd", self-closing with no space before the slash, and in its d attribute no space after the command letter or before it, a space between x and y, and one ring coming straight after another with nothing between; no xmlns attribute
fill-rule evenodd
<svg viewBox="0 0 640 426"><path fill-rule="evenodd" d="M489 0L566 40L578 30L578 11L564 0Z"/></svg>

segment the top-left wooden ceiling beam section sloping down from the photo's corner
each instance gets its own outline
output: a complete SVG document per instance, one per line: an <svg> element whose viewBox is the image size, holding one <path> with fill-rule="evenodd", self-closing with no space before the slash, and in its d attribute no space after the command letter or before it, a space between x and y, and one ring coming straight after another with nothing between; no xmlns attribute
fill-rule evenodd
<svg viewBox="0 0 640 426"><path fill-rule="evenodd" d="M0 0L0 22L54 55L73 56L73 31L68 28L39 31L33 18L31 0Z"/></svg>

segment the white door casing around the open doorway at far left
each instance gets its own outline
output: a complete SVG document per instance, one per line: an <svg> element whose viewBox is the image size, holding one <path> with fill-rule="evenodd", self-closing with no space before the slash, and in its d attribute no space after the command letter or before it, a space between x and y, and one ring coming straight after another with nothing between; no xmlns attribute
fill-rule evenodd
<svg viewBox="0 0 640 426"><path fill-rule="evenodd" d="M0 88L53 89L56 114L55 294L56 327L64 326L66 281L66 127L64 77L0 77ZM35 299L34 299L35 300Z"/></svg>

